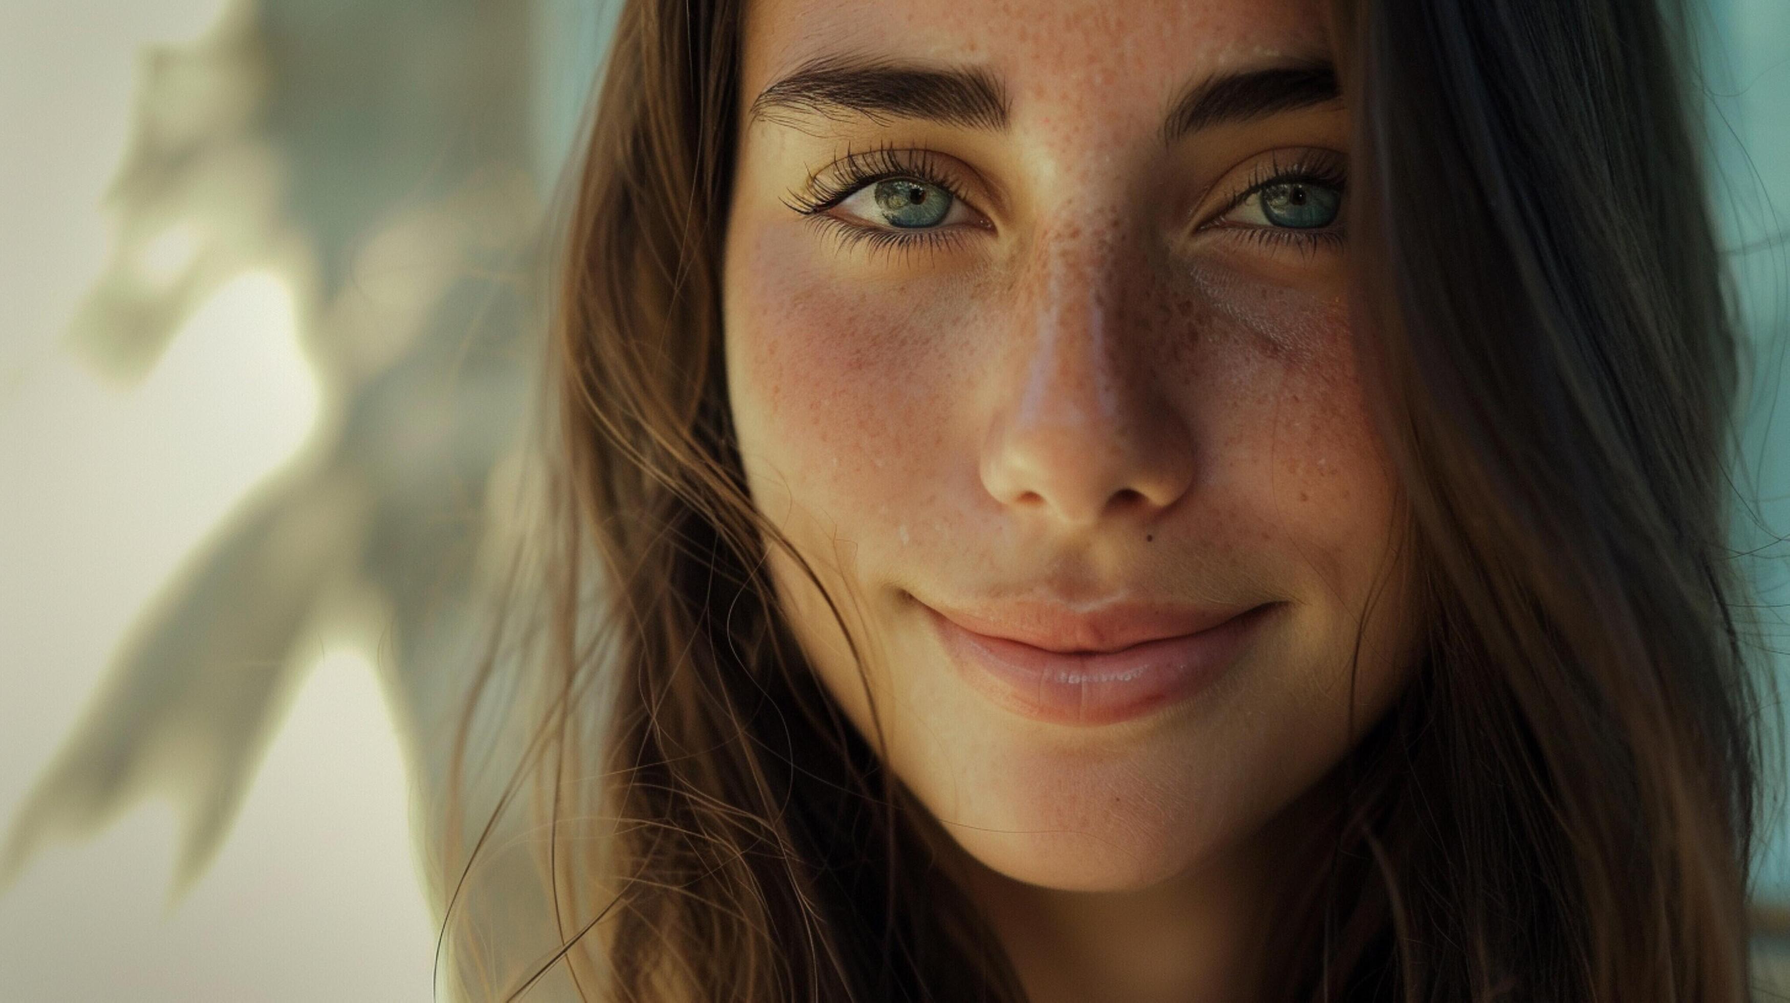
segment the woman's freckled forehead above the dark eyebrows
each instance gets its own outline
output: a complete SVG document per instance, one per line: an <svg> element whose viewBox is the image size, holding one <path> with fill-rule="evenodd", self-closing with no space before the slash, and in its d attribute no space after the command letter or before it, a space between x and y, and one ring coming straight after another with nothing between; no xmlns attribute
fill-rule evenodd
<svg viewBox="0 0 1790 1003"><path fill-rule="evenodd" d="M1330 52L1321 0L748 0L741 90L750 102L804 63L866 56L986 68L1017 118L1065 102L1113 113Z"/></svg>

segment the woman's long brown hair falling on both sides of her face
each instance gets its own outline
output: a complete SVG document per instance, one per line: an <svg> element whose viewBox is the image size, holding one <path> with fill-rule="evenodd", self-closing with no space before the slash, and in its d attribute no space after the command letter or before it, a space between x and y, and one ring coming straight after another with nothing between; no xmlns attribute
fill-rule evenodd
<svg viewBox="0 0 1790 1003"><path fill-rule="evenodd" d="M553 342L544 716L499 804L544 820L551 933L469 990L1017 1001L764 570L789 548L746 494L720 362L741 16L630 0L616 30ZM1428 643L1325 781L1339 810L1278 906L1273 992L1743 999L1738 360L1684 34L1631 0L1373 0L1335 23L1360 369ZM460 894L490 833L446 928L499 922Z"/></svg>

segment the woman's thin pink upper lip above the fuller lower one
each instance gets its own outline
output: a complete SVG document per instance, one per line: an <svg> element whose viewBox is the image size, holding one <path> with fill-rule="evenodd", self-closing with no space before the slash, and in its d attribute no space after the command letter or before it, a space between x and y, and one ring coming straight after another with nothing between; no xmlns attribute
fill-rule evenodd
<svg viewBox="0 0 1790 1003"><path fill-rule="evenodd" d="M1094 607L1054 600L1004 600L976 605L925 604L958 627L1060 654L1108 654L1147 641L1210 630L1260 604L1113 600Z"/></svg>

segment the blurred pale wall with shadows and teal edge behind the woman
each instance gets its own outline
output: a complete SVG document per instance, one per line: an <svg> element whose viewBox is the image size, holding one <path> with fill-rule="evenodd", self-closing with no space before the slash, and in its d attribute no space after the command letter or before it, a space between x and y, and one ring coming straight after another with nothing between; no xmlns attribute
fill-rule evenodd
<svg viewBox="0 0 1790 1003"><path fill-rule="evenodd" d="M614 5L0 0L0 1001L430 999ZM1790 0L1702 11L1785 652Z"/></svg>

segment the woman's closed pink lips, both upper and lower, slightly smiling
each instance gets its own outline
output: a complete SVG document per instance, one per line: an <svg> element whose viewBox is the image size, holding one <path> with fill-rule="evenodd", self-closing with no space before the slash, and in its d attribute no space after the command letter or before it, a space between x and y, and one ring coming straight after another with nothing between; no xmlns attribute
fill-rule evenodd
<svg viewBox="0 0 1790 1003"><path fill-rule="evenodd" d="M925 605L963 679L1027 718L1108 725L1192 699L1237 659L1280 604L1185 607Z"/></svg>

